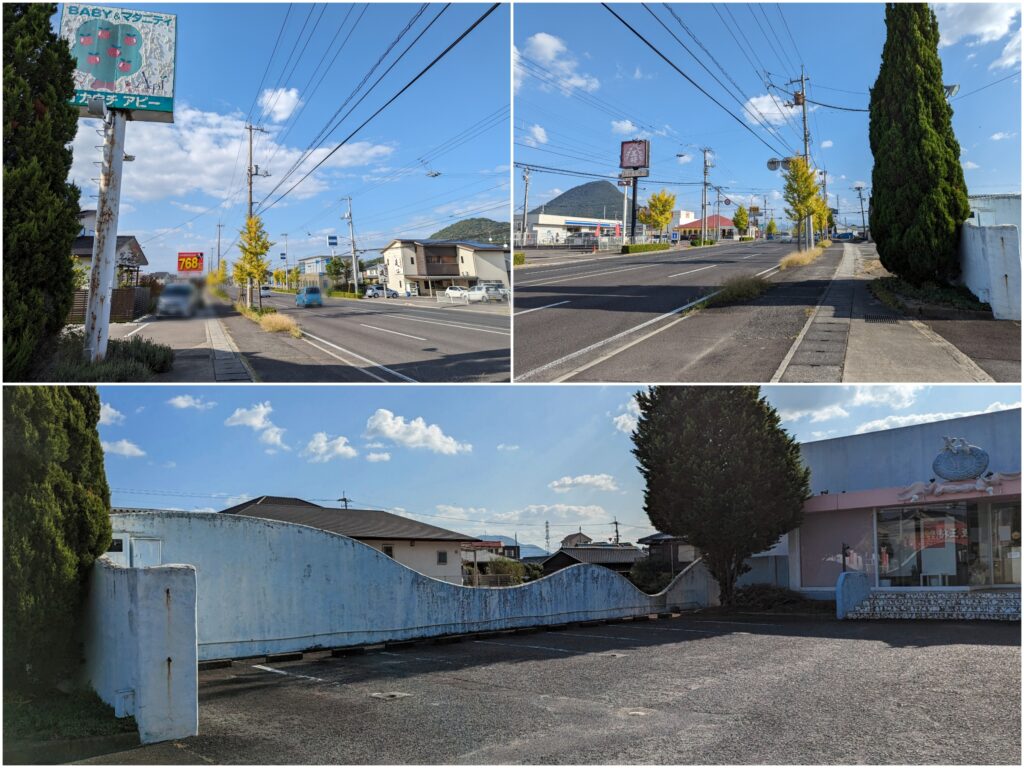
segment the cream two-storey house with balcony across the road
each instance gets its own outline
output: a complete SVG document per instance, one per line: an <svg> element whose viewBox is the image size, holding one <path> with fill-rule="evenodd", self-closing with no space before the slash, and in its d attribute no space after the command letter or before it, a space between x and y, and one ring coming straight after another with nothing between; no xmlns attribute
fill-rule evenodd
<svg viewBox="0 0 1024 768"><path fill-rule="evenodd" d="M381 250L388 288L436 296L450 286L510 285L508 246L454 240L392 240Z"/></svg>

